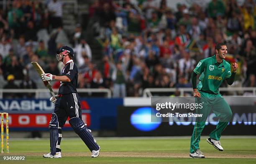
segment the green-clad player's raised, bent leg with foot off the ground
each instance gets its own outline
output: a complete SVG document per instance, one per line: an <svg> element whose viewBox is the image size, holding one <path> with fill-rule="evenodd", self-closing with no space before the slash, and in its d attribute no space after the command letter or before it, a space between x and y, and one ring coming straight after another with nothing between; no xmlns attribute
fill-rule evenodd
<svg viewBox="0 0 256 164"><path fill-rule="evenodd" d="M216 96L212 111L219 118L219 122L216 129L210 133L209 138L207 138L207 142L212 144L215 149L223 151L223 147L220 144L220 135L221 132L223 132L223 130L228 126L228 122L232 117L232 111L228 103L220 94Z"/></svg>

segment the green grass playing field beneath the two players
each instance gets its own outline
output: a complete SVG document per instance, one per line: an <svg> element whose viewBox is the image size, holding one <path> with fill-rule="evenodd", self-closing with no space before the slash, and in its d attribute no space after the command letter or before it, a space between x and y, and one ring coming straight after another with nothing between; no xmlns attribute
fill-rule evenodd
<svg viewBox="0 0 256 164"><path fill-rule="evenodd" d="M205 159L191 159L189 155L189 138L142 138L142 139L98 139L101 147L100 156L91 158L89 149L80 139L63 139L61 141L62 158L46 159L42 155L49 152L49 140L10 140L8 156L26 156L22 163L256 163L256 138L224 138L221 144L223 152L219 152L201 137L200 150ZM0 163L18 163L3 161ZM19 161L21 162L21 161Z"/></svg>

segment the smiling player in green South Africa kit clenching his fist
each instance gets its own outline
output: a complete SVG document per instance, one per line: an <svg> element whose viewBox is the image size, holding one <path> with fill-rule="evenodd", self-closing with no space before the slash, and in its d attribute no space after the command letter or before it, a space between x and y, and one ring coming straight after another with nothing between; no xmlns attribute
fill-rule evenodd
<svg viewBox="0 0 256 164"><path fill-rule="evenodd" d="M226 80L229 85L233 84L238 68L238 64L233 63L233 72L231 72L230 64L224 60L227 52L227 46L224 43L218 43L215 46L215 55L201 60L192 72L194 97L196 97L196 103L202 103L202 109L197 109L197 113L202 114L202 117L197 117L195 122L189 157L205 158L199 150L199 142L207 116L211 111L218 117L219 122L206 141L215 149L223 151L223 147L220 144L220 134L228 126L232 111L219 93L219 87L223 80ZM197 75L199 74L200 82L196 86Z"/></svg>

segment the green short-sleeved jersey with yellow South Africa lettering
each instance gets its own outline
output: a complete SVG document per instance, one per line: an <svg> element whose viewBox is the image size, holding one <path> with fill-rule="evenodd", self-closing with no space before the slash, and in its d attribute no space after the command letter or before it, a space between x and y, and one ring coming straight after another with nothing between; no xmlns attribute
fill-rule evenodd
<svg viewBox="0 0 256 164"><path fill-rule="evenodd" d="M220 84L224 79L231 76L231 67L224 59L221 63L218 63L214 55L201 60L195 67L194 72L197 75L201 74L200 82L197 84L198 90L218 94Z"/></svg>

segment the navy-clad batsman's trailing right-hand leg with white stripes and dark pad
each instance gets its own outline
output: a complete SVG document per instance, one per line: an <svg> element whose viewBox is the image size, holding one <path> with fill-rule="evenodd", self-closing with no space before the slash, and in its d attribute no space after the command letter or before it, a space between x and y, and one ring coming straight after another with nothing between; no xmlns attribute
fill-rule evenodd
<svg viewBox="0 0 256 164"><path fill-rule="evenodd" d="M80 100L77 93L69 94L67 97L67 110L69 115L69 124L74 131L83 140L86 146L92 152L92 157L98 157L100 147L94 141L91 132L87 128L86 124L82 121L82 112L80 107Z"/></svg>

